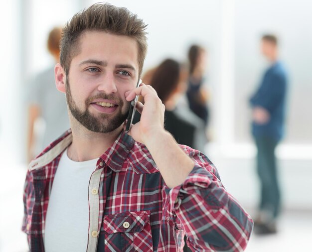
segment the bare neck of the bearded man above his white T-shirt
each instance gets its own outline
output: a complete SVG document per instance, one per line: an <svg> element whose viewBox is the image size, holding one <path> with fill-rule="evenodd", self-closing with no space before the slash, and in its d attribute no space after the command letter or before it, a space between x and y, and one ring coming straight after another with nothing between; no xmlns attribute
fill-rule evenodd
<svg viewBox="0 0 312 252"><path fill-rule="evenodd" d="M68 157L77 162L99 158L112 144L122 131L121 125L108 133L93 132L71 120L73 141L68 147Z"/></svg>

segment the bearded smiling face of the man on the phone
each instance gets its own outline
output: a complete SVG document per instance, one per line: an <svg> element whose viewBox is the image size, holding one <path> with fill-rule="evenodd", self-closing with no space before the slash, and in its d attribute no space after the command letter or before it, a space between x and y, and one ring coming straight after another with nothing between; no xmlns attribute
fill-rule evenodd
<svg viewBox="0 0 312 252"><path fill-rule="evenodd" d="M66 77L66 99L72 116L87 129L111 132L126 120L125 92L138 81L138 47L134 39L88 31Z"/></svg>

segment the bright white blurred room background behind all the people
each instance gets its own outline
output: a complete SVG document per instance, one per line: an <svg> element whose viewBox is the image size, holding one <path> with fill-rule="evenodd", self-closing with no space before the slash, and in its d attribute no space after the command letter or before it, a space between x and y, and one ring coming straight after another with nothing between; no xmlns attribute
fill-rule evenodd
<svg viewBox="0 0 312 252"><path fill-rule="evenodd" d="M49 31L93 0L11 0L0 9L0 251L27 251L20 231L27 166L29 81L53 63ZM279 232L251 238L248 252L311 251L312 235L312 2L309 0L111 0L149 24L144 71L165 58L187 61L193 43L207 52L209 142L205 153L222 182L251 213L259 200L256 148L248 100L268 63L261 55L265 33L279 37L289 74L286 136L278 146L283 210Z"/></svg>

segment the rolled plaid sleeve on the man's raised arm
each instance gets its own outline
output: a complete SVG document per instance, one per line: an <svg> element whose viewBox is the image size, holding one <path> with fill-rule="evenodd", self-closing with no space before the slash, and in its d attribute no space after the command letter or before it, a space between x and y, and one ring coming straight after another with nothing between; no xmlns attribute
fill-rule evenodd
<svg viewBox="0 0 312 252"><path fill-rule="evenodd" d="M184 183L165 189L177 227L195 251L243 251L251 217L225 190L210 160L202 154L193 159L196 164Z"/></svg>

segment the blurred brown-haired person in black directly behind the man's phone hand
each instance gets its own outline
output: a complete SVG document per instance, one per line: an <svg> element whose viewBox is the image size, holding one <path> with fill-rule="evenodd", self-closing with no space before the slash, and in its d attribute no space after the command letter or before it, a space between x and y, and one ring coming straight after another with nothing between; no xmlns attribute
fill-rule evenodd
<svg viewBox="0 0 312 252"><path fill-rule="evenodd" d="M176 60L165 59L143 76L144 83L151 85L165 106L164 127L179 144L204 152L207 142L203 121L187 107L179 104L187 89L188 71ZM136 113L136 121L140 113Z"/></svg>

